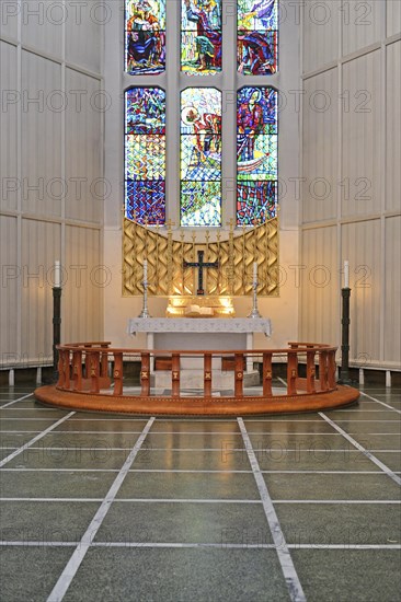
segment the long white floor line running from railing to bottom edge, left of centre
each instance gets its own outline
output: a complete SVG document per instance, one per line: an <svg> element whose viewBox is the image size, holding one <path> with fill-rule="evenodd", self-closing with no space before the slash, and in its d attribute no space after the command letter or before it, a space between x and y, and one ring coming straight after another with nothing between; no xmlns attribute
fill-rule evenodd
<svg viewBox="0 0 401 602"><path fill-rule="evenodd" d="M115 481L113 482L111 488L108 489L105 498L103 499L101 506L98 509L98 512L91 520L91 523L89 524L87 531L81 537L81 541L78 543L72 556L68 560L64 571L61 572L60 577L58 578L57 583L53 588L47 602L59 602L64 599L68 588L71 584L72 579L75 578L79 567L81 566L81 563L89 549L89 546L91 545L93 539L95 537L100 526L102 525L102 522L107 514L111 505L113 503L135 458L137 456L137 453L141 447L141 444L145 441L146 436L148 435L152 424L154 421L154 417L150 418L148 422L146 424L142 433L138 438L138 441L133 447L130 453L128 454L126 461L124 462L118 475L116 476Z"/></svg>

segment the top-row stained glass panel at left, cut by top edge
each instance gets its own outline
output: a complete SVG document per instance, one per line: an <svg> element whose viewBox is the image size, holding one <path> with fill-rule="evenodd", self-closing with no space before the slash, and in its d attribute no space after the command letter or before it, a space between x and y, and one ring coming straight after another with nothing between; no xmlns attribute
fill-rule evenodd
<svg viewBox="0 0 401 602"><path fill-rule="evenodd" d="M133 76L165 69L165 0L125 0L125 70Z"/></svg>

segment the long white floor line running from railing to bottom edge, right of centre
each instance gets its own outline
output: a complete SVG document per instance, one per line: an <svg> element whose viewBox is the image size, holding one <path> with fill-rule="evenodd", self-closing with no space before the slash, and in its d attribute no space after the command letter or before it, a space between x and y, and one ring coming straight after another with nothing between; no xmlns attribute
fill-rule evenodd
<svg viewBox="0 0 401 602"><path fill-rule="evenodd" d="M284 537L284 533L278 522L278 517L276 514L276 511L272 502L272 498L267 490L267 486L264 482L264 478L261 473L261 468L259 467L255 453L252 449L252 443L248 436L245 425L243 424L242 418L237 418L237 420L242 433L244 445L247 448L248 459L250 461L250 464L253 471L253 476L255 478L256 486L262 499L263 510L264 510L264 513L266 514L267 523L273 536L273 542L276 545L276 552L277 552L278 560L287 584L289 598L294 602L303 602L306 601L306 595L303 593L302 586L300 583L299 577L297 575L296 568L290 557L290 554Z"/></svg>

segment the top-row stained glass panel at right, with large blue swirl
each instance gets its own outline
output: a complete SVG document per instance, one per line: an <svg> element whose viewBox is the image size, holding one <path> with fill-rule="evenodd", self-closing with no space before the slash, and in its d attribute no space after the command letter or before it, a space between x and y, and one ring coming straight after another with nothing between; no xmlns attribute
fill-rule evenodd
<svg viewBox="0 0 401 602"><path fill-rule="evenodd" d="M278 0L238 0L237 61L245 76L277 71Z"/></svg>

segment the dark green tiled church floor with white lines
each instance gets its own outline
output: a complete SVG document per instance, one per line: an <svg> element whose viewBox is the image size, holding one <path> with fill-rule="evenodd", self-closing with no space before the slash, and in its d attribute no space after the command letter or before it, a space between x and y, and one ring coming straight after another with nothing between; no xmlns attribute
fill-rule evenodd
<svg viewBox="0 0 401 602"><path fill-rule="evenodd" d="M399 387L243 419L64 412L34 389L0 387L2 602L399 600Z"/></svg>

